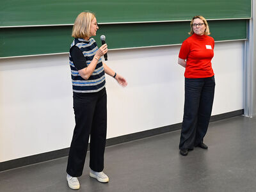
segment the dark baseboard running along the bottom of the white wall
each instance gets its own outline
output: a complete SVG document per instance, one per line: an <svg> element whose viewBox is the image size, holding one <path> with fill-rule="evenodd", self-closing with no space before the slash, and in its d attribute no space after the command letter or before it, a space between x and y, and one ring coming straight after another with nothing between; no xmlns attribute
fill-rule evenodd
<svg viewBox="0 0 256 192"><path fill-rule="evenodd" d="M243 113L244 113L244 109L241 109L241 110L237 110L237 111L223 113L220 115L214 115L214 116L211 116L210 122L214 122L217 120L223 120L225 118L231 118L234 116L240 116L240 115L243 115ZM179 130L179 129L181 129L181 123L167 125L167 126L159 127L156 129L150 129L147 131L135 132L135 133L127 134L124 136L118 136L116 138L109 138L106 142L106 146L116 145L119 143L125 143L125 142L133 141L133 140L139 140L142 138L147 138L147 137L154 136L157 134L163 134L165 132L175 131L175 130ZM42 163L44 161L49 161L52 159L58 159L60 157L65 157L65 156L68 156L68 151L69 151L69 148L63 148L60 150L54 150L51 152L36 154L34 156L28 156L28 157L22 157L19 159L13 159L10 161L4 161L4 162L0 163L0 172L5 171L5 170L10 170L13 168L19 168L21 166L27 166L29 164Z"/></svg>

